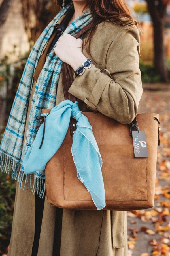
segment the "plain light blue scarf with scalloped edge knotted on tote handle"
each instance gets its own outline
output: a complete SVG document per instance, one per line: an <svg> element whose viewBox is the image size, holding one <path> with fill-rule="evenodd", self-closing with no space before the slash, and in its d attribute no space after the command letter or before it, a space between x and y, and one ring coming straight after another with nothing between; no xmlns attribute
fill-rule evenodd
<svg viewBox="0 0 170 256"><path fill-rule="evenodd" d="M47 113L42 115L46 116ZM105 190L101 173L102 159L92 126L86 116L81 114L77 101L75 103L70 100L62 101L46 116L42 146L39 149L43 125L40 126L33 144L24 157L24 173L35 173L45 169L46 163L56 153L65 138L70 117L78 121L71 147L77 177L85 185L99 210L105 207Z"/></svg>

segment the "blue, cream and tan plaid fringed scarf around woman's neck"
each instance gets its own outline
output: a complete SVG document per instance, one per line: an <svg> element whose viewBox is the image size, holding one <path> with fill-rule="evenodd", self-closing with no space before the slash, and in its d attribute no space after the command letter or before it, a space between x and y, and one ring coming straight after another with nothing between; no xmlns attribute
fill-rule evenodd
<svg viewBox="0 0 170 256"><path fill-rule="evenodd" d="M12 169L12 178L18 178L19 187L22 187L22 181L25 175L22 169L22 161L36 135L36 116L42 113L42 108L52 109L55 106L57 84L61 72L62 61L56 56L54 48L46 59L44 67L35 85L35 93L31 102L28 128L26 131L26 139L23 145L27 109L33 85L33 73L37 66L42 49L48 42L54 30L54 26L59 19L61 19L63 14L71 7L73 7L73 3L68 4L64 9L62 9L44 29L35 43L25 65L8 124L3 135L0 146L0 169L8 174L10 169ZM87 10L83 15L72 21L64 33L69 33L72 36L75 36L78 31L87 26L91 21L92 14L90 10ZM45 173L42 170L32 175L34 175L33 187L31 184L31 175L30 177L25 175L23 190L25 189L25 186L27 186L28 189L28 180L30 180L30 188L33 194L37 192L40 197L43 197L45 192Z"/></svg>

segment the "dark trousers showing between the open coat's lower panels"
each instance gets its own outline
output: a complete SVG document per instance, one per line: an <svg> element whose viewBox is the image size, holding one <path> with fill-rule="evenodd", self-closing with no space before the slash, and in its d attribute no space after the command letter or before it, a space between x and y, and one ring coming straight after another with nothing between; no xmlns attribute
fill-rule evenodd
<svg viewBox="0 0 170 256"><path fill-rule="evenodd" d="M35 194L35 233L34 233L34 242L33 242L31 256L37 256L37 253L38 253L41 224L42 224L42 215L44 210L44 200L45 200L45 195L44 195L44 198L40 198L37 194ZM53 256L60 255L62 216L63 216L63 209L56 207Z"/></svg>

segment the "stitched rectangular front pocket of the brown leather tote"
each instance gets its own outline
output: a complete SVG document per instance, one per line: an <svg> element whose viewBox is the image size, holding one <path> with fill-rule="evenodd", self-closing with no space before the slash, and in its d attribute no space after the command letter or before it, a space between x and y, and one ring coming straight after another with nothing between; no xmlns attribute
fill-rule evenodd
<svg viewBox="0 0 170 256"><path fill-rule="evenodd" d="M70 150L70 145L64 144L65 200L92 200L77 177ZM147 200L147 158L135 158L131 144L99 145L99 150L103 159L101 169L106 201ZM138 167L141 170L140 175Z"/></svg>

